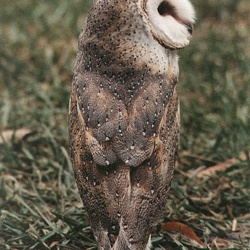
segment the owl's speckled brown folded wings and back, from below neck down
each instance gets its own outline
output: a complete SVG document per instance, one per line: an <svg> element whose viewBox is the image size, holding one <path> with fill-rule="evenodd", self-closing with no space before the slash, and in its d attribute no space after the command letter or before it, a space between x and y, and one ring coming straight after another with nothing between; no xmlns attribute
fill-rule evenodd
<svg viewBox="0 0 250 250"><path fill-rule="evenodd" d="M164 208L178 146L174 78L133 79L137 88L91 73L77 74L73 81L71 159L94 235L104 249L146 246L150 227ZM119 92L118 86L125 90Z"/></svg>

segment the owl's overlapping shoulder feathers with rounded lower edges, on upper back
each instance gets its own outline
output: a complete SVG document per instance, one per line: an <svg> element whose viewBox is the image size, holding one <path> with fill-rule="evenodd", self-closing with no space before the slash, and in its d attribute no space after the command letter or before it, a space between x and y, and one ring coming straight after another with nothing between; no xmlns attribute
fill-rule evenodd
<svg viewBox="0 0 250 250"><path fill-rule="evenodd" d="M94 161L101 166L119 161L139 166L148 159L155 145L166 139L162 131L175 84L176 79L144 76L134 83L137 88L129 91L115 80L78 74L73 83L77 115L84 124L85 144ZM175 109L174 116L176 105Z"/></svg>

